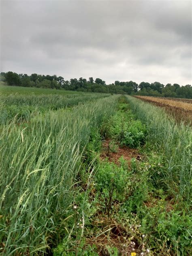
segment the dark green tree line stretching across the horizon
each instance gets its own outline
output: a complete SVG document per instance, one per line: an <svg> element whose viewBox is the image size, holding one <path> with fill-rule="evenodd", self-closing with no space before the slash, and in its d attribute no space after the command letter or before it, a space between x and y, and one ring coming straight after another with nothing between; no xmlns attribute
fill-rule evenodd
<svg viewBox="0 0 192 256"><path fill-rule="evenodd" d="M161 96L161 97L176 97L176 98L192 98L192 86L180 86L178 83L168 83L166 85L154 82L141 82L137 84L133 81L120 82L115 81L106 85L105 81L93 77L88 80L80 77L72 78L69 81L63 77L56 75L38 75L36 73L28 76L27 74L17 74L11 71L0 73L0 81L6 82L8 85L65 89L79 92L101 92L111 94L130 94L143 96Z"/></svg>

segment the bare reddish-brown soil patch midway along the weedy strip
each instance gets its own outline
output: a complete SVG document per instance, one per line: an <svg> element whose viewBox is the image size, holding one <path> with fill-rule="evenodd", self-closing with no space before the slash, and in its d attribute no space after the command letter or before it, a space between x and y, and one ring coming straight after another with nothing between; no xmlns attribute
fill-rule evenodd
<svg viewBox="0 0 192 256"><path fill-rule="evenodd" d="M137 160L141 160L141 154L138 153L137 149L131 149L129 147L118 147L117 152L111 152L109 151L109 143L110 140L106 140L103 142L103 152L100 155L100 158L102 160L105 160L105 158L108 158L109 162L114 162L115 164L119 164L119 158L123 156L124 160L126 160L128 163L130 163L130 160L132 158L136 158Z"/></svg>

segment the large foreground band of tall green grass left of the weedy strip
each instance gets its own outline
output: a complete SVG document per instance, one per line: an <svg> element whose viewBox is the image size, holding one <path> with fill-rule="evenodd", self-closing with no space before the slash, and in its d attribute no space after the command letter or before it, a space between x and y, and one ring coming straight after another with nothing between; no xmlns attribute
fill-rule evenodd
<svg viewBox="0 0 192 256"><path fill-rule="evenodd" d="M0 126L3 255L45 254L62 233L83 148L92 128L113 113L116 101L111 96L70 112L39 113L29 124L18 126L13 120Z"/></svg>

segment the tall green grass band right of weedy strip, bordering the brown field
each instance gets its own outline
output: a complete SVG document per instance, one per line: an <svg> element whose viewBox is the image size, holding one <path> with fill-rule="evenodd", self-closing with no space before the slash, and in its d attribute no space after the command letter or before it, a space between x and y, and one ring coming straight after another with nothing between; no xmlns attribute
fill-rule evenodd
<svg viewBox="0 0 192 256"><path fill-rule="evenodd" d="M130 108L146 125L147 145L164 158L163 182L175 196L181 196L191 205L192 198L192 129L176 124L159 107L126 96Z"/></svg>

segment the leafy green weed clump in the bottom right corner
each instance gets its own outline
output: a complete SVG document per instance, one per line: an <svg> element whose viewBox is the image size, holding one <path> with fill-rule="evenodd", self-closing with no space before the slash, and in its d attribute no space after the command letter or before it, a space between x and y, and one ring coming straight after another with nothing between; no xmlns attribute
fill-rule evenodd
<svg viewBox="0 0 192 256"><path fill-rule="evenodd" d="M177 255L191 255L192 218L185 211L166 212L164 204L162 200L154 207L142 209L141 230L146 234L145 242L155 248L156 254L164 255L171 249Z"/></svg>

